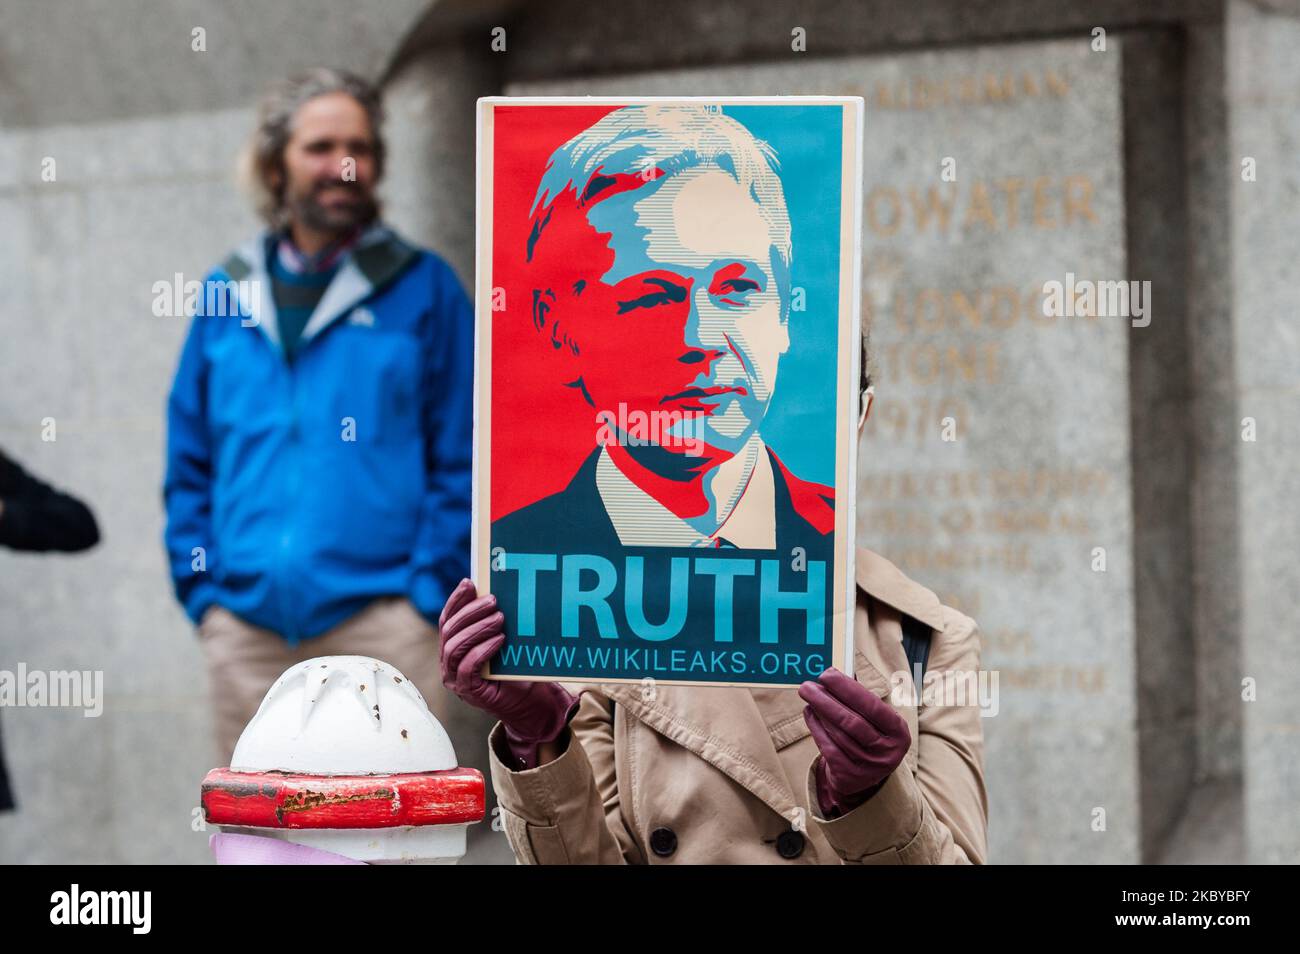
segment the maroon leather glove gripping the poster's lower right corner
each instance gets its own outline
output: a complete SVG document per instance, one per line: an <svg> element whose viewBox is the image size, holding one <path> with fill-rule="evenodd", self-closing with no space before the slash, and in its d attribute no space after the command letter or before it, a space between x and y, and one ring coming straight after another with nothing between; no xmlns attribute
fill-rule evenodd
<svg viewBox="0 0 1300 954"><path fill-rule="evenodd" d="M907 720L879 695L836 668L800 685L803 719L822 753L816 794L836 818L880 790L911 746Z"/></svg>

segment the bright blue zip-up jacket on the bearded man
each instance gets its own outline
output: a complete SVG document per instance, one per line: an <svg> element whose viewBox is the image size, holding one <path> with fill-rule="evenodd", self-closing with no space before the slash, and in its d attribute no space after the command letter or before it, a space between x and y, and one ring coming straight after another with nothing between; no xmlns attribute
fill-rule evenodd
<svg viewBox="0 0 1300 954"><path fill-rule="evenodd" d="M473 309L451 268L370 227L281 348L270 235L204 282L168 400L165 542L198 623L291 645L377 597L436 620L469 574Z"/></svg>

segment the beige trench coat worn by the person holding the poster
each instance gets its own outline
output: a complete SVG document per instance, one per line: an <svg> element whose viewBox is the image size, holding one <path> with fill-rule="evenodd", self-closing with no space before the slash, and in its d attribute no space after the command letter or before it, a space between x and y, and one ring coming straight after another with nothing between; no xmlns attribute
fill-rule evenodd
<svg viewBox="0 0 1300 954"><path fill-rule="evenodd" d="M651 694L637 684L569 684L581 706L552 762L512 771L502 760L500 723L489 736L515 857L525 864L984 863L978 702L923 704L918 714L913 699L892 698L889 681L909 668L901 613L935 630L927 673L979 669L975 623L870 550L858 550L857 584L855 676L911 730L906 758L874 797L822 818L812 775L820 754L793 689L655 686L644 698Z"/></svg>

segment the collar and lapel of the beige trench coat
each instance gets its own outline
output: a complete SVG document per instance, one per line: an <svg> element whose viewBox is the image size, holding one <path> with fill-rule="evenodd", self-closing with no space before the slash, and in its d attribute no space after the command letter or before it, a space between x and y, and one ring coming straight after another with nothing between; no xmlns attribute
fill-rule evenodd
<svg viewBox="0 0 1300 954"><path fill-rule="evenodd" d="M913 582L887 559L858 547L855 560L858 589L902 613L942 628L942 606L924 586ZM874 645L872 621L854 608L857 621L854 675L874 691L889 688L883 673L893 660ZM896 629L897 626L894 626ZM898 652L902 652L901 643ZM582 686L569 686L580 691ZM660 736L673 740L742 785L777 814L792 818L800 806L777 749L809 734L803 720L803 699L789 689L748 689L736 686L656 685L646 691L641 684L602 684L601 690ZM909 717L915 738L914 716ZM796 779L801 785L803 779Z"/></svg>

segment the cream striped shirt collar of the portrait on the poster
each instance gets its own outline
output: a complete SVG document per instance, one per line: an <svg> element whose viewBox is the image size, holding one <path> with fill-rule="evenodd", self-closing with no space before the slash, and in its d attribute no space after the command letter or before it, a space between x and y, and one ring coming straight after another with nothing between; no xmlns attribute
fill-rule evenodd
<svg viewBox="0 0 1300 954"><path fill-rule="evenodd" d="M595 487L623 546L718 547L753 550L776 547L776 486L772 459L758 434L737 458L753 454L754 469L727 520L712 534L701 533L624 474L606 447L595 464Z"/></svg>

